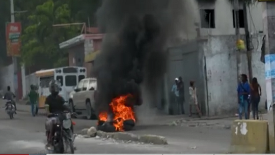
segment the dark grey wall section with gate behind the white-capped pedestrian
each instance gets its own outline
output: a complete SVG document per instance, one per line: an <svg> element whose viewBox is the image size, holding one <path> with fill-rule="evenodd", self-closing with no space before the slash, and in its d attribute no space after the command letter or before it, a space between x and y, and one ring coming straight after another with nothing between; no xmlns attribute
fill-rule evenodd
<svg viewBox="0 0 275 155"><path fill-rule="evenodd" d="M204 82L204 58L203 51L200 50L197 41L189 42L186 45L180 47L174 47L169 49L169 61L168 61L168 92L170 94L170 103L174 114L178 113L178 107L173 100L173 94L171 94L171 88L174 84L176 77L181 76L184 82L184 97L185 97L185 114L189 114L189 81L194 80L197 86L198 102L202 107L202 111L205 113L205 82ZM193 108L195 112L195 108Z"/></svg>

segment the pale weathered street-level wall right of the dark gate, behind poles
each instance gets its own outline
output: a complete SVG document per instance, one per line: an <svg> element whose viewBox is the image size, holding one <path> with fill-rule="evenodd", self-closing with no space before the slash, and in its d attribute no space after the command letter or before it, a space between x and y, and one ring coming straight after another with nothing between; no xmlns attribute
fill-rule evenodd
<svg viewBox="0 0 275 155"><path fill-rule="evenodd" d="M253 76L258 78L262 87L260 107L263 108L266 92L264 64L260 61L261 39L262 35L253 38L255 49L252 54L252 68ZM201 46L206 57L209 114L236 113L238 104L235 36L212 36ZM241 71L248 75L245 53L241 53Z"/></svg>

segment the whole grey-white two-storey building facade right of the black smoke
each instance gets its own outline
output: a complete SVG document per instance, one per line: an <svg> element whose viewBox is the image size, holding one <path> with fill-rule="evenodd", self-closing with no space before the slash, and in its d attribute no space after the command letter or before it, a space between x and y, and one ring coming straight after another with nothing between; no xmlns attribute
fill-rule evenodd
<svg viewBox="0 0 275 155"><path fill-rule="evenodd" d="M241 2L241 1L240 1ZM173 3L173 2L172 2ZM174 40L169 52L166 75L166 98L169 98L175 77L182 76L185 83L185 112L188 112L190 80L196 81L199 103L205 115L235 114L237 112L237 70L236 36L233 1L191 1L183 3L189 6L186 17L188 23L181 35ZM190 7L191 6L191 7ZM252 38L253 77L257 77L262 86L260 107L266 100L264 64L260 61L263 34L262 3L248 6L248 25ZM239 5L239 23L241 38L244 36L242 5ZM186 21L186 20L185 20ZM186 28L187 27L187 28ZM173 40L173 41L174 41ZM245 39L244 39L245 40ZM173 42L171 41L171 42ZM241 52L241 72L248 75L248 62L245 51ZM172 104L176 109L173 102ZM166 111L168 112L168 105ZM170 105L171 106L171 105ZM194 109L194 108L193 108ZM194 111L195 112L195 111Z"/></svg>

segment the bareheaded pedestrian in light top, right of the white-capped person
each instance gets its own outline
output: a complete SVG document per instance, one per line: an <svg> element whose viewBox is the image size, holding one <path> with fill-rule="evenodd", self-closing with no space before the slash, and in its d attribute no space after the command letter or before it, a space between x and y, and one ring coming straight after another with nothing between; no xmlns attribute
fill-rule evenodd
<svg viewBox="0 0 275 155"><path fill-rule="evenodd" d="M197 114L199 117L202 116L202 112L198 105L198 96L197 96L197 88L195 86L195 81L190 81L189 86L189 117L192 116L192 106L195 106Z"/></svg>

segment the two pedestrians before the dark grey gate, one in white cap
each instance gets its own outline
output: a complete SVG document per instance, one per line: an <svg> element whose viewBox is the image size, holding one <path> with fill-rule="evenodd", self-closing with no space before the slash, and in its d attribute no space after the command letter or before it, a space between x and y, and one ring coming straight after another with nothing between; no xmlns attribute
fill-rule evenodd
<svg viewBox="0 0 275 155"><path fill-rule="evenodd" d="M184 84L182 81L182 77L175 78L175 83L172 86L173 96L175 97L175 103L177 104L177 109L180 111L180 114L185 114L184 111ZM195 81L189 82L189 116L192 116L192 107L195 106L197 114L199 117L202 116L202 112L200 110L198 104L198 96L197 96L197 88L195 86Z"/></svg>

